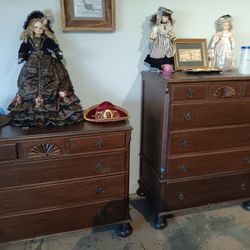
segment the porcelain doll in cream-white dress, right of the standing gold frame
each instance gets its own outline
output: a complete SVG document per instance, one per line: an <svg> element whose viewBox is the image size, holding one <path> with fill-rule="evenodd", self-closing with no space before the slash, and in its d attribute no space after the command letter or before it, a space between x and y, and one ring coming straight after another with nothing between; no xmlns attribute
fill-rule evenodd
<svg viewBox="0 0 250 250"><path fill-rule="evenodd" d="M209 50L211 66L222 70L232 70L233 48L235 41L232 30L232 17L230 15L221 16L218 19L219 31L214 35Z"/></svg>

